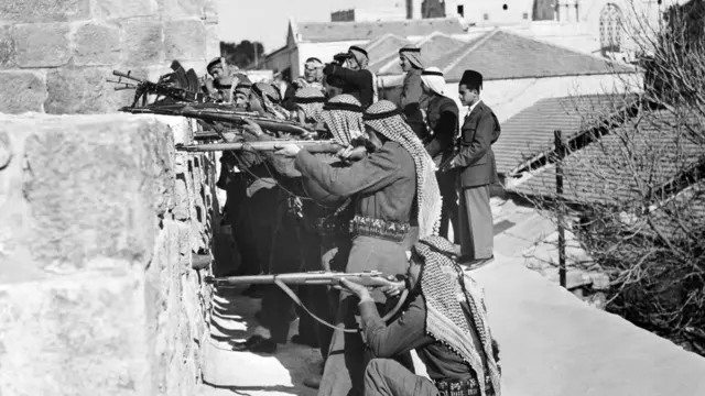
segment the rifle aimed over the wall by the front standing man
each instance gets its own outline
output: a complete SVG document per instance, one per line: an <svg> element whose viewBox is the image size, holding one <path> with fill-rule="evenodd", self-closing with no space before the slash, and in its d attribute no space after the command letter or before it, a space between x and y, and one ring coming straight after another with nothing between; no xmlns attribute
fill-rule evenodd
<svg viewBox="0 0 705 396"><path fill-rule="evenodd" d="M254 141L254 142L238 142L238 143L205 143L205 144L176 144L177 151L189 153L205 153L205 152L220 152L220 151L276 151L280 146L285 144L297 144L310 153L329 153L335 154L341 145L333 140L329 141L288 141L288 140L273 140L273 141Z"/></svg>

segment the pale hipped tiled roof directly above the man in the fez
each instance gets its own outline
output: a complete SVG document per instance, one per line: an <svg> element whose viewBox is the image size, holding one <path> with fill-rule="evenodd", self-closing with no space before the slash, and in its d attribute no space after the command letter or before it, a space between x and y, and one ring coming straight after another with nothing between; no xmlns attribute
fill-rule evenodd
<svg viewBox="0 0 705 396"><path fill-rule="evenodd" d="M627 65L610 63L500 29L433 63L443 65L445 78L449 82L459 81L466 69L480 72L486 80L633 72Z"/></svg>

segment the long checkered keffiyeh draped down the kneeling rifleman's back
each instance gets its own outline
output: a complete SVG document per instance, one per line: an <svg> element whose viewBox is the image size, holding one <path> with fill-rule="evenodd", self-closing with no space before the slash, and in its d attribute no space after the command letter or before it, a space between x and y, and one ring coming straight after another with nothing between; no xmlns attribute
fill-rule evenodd
<svg viewBox="0 0 705 396"><path fill-rule="evenodd" d="M423 258L421 293L426 301L426 333L443 342L470 365L477 375L480 394L486 395L485 369L479 351L474 348L469 326L475 326L487 358L495 395L500 396L500 372L494 356L492 337L487 320L481 288L466 275L455 258L453 244L442 237L430 237L414 244L414 252ZM473 322L463 314L467 301Z"/></svg>

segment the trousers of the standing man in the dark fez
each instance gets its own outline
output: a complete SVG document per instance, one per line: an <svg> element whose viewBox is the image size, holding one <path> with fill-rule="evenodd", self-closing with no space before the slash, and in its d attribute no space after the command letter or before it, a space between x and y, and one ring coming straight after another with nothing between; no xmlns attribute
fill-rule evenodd
<svg viewBox="0 0 705 396"><path fill-rule="evenodd" d="M494 254L492 209L489 185L460 190L460 252L468 258L489 258Z"/></svg>

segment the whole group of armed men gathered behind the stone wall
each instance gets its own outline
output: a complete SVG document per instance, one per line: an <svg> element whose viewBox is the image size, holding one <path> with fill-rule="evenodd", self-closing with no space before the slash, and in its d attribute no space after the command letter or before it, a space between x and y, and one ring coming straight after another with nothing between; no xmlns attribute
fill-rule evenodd
<svg viewBox="0 0 705 396"><path fill-rule="evenodd" d="M459 82L469 108L460 122L441 70L426 67L417 47L399 56L406 76L395 101L379 100L358 46L329 64L307 59L304 77L286 89L228 73L219 58L208 65L213 81L204 89L220 101L300 122L343 147L310 153L282 141L273 154L224 153L219 187L242 258L238 273L379 271L399 279L372 292L349 282L299 290L322 322L300 310L292 340L321 348L323 377L306 381L319 395L499 395L482 295L464 272L494 257L499 122L479 99L479 73L467 70ZM242 135L226 139L275 134L248 122ZM459 251L447 241L449 224ZM382 320L404 289L401 312ZM234 348L276 353L289 341L293 302L275 286L251 292L262 297L259 326ZM431 381L414 375L411 350Z"/></svg>

